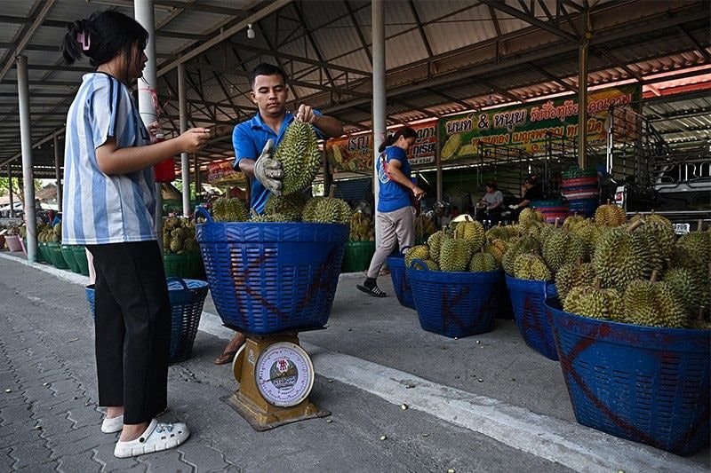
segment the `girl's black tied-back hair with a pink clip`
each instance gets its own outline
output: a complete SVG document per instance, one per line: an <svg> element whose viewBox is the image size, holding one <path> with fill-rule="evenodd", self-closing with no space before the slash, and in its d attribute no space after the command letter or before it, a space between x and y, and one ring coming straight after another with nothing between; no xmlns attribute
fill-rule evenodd
<svg viewBox="0 0 711 473"><path fill-rule="evenodd" d="M89 19L76 20L67 25L67 33L61 43L61 54L67 64L74 64L83 55L93 67L114 59L124 52L132 58L133 45L138 51L146 49L148 31L124 13L106 10L93 12ZM138 64L140 54L132 58Z"/></svg>

